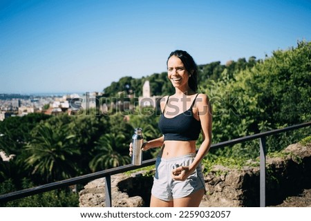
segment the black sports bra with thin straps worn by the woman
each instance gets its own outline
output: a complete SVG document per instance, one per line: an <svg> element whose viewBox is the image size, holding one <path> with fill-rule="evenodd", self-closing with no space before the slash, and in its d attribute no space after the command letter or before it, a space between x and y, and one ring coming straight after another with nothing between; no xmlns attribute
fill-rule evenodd
<svg viewBox="0 0 311 221"><path fill-rule="evenodd" d="M196 97L198 97L198 94ZM198 140L201 131L201 124L200 121L194 118L192 113L196 97L187 111L171 118L164 116L165 107L169 102L169 97L167 97L167 103L164 106L164 110L158 122L160 131L164 135L164 140Z"/></svg>

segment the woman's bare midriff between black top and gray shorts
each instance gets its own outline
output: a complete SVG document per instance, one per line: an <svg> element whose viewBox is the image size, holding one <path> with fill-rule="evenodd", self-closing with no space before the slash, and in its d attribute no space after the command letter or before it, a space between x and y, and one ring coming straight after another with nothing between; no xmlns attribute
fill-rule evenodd
<svg viewBox="0 0 311 221"><path fill-rule="evenodd" d="M176 141L166 140L161 148L159 157L169 159L172 157L180 157L189 153L196 153L196 140Z"/></svg>

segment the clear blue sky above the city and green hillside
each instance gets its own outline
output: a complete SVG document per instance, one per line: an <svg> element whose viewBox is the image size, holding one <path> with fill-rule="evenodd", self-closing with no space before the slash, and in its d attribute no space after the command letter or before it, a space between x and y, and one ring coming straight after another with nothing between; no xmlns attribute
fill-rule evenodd
<svg viewBox="0 0 311 221"><path fill-rule="evenodd" d="M225 64L303 39L307 0L0 0L0 93L102 91L166 71L172 50Z"/></svg>

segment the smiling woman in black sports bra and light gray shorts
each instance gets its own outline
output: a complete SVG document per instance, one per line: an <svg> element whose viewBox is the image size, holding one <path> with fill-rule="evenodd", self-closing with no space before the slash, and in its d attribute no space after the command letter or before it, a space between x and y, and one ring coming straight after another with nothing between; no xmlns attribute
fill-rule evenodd
<svg viewBox="0 0 311 221"><path fill-rule="evenodd" d="M142 146L143 151L162 147L156 161L150 206L199 206L205 194L200 162L211 146L211 106L207 95L196 93L198 69L187 52L171 52L167 75L176 91L160 102L159 128L163 136ZM196 153L200 133L203 142Z"/></svg>

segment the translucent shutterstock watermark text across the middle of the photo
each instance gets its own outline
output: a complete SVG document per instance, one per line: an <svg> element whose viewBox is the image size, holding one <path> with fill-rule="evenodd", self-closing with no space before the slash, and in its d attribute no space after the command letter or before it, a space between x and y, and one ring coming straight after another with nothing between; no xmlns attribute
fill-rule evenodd
<svg viewBox="0 0 311 221"><path fill-rule="evenodd" d="M136 97L135 94L125 95L122 93L120 97L103 97L92 96L86 92L84 97L75 97L69 100L69 105L73 115L161 115L160 102L166 103L165 115L173 117L179 114L191 115L193 98L183 95L181 98L169 97L169 101L163 97ZM241 115L238 102L241 97L232 97L230 91L225 91L223 96L209 97L209 105L205 105L200 110L199 115L210 113L213 116L220 115ZM196 98L193 103L202 102L200 97ZM213 108L211 108L213 106ZM211 111L213 109L213 111Z"/></svg>

